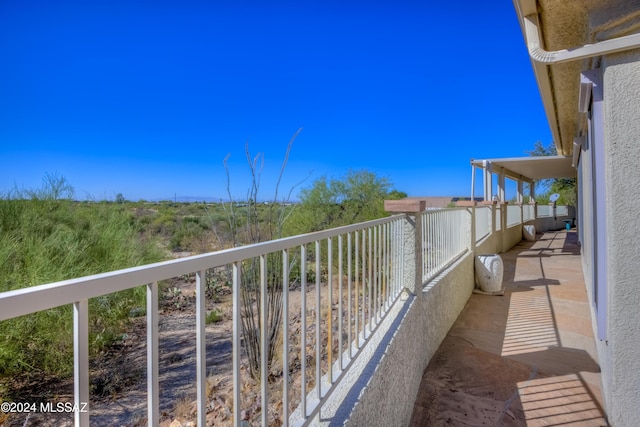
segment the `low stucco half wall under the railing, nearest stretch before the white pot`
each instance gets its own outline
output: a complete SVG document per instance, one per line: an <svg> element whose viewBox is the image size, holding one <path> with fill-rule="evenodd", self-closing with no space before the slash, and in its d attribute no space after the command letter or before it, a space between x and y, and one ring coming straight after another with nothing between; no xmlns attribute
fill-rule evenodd
<svg viewBox="0 0 640 427"><path fill-rule="evenodd" d="M429 282L421 294L404 301L406 312L344 425L409 424L422 372L473 288L473 255L467 253Z"/></svg>

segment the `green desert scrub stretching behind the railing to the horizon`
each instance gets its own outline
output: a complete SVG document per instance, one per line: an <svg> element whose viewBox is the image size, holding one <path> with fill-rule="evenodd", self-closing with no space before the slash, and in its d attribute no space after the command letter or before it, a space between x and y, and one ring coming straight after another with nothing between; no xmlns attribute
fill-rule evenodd
<svg viewBox="0 0 640 427"><path fill-rule="evenodd" d="M290 148L291 143L281 174ZM293 189L284 196L276 189L275 195L262 197L258 185L262 157L251 156L248 147L246 156L253 186L243 200L234 200L229 193L227 200L218 203L133 202L122 194L115 201L77 201L71 183L57 174L47 175L41 188L16 188L4 194L0 198L0 292L374 219L385 215L385 198L405 196L393 190L387 179L368 171L348 171L342 177L317 179L300 191L295 202L290 200ZM283 284L278 283L282 277L278 268L282 264L276 258L268 260L274 272L268 286L270 361L277 359L275 350L281 345ZM251 363L259 360L260 351L252 338L258 331L252 320L260 300L252 285L256 265L246 263L242 274L247 284L242 289L243 343L248 381L255 382L261 375L257 363ZM294 258L290 274L295 281L301 274L314 272L301 272ZM207 272L207 296L212 302L228 300L228 276L224 269ZM161 283L160 303L167 311L180 311L193 303L182 286L192 278L176 280ZM213 307L207 324L228 320L225 307ZM144 314L143 288L91 300L92 360L104 360L122 346ZM73 363L71 331L70 306L0 322L0 399L24 397L29 393L25 387L34 383L68 380ZM94 392L108 388L100 378L94 375Z"/></svg>

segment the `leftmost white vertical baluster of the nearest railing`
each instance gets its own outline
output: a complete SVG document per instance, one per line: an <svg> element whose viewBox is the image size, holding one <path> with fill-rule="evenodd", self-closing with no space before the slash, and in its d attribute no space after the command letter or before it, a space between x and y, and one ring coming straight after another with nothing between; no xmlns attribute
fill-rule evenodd
<svg viewBox="0 0 640 427"><path fill-rule="evenodd" d="M73 303L73 398L75 426L89 425L89 301Z"/></svg>

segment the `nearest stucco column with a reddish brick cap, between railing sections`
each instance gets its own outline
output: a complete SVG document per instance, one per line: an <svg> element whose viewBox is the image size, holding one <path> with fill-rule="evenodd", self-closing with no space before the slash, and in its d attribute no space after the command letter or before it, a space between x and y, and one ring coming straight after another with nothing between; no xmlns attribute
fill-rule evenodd
<svg viewBox="0 0 640 427"><path fill-rule="evenodd" d="M385 200L384 209L392 213L406 214L402 223L401 242L403 259L402 283L404 289L412 295L422 294L422 220L421 212L425 210L424 200Z"/></svg>

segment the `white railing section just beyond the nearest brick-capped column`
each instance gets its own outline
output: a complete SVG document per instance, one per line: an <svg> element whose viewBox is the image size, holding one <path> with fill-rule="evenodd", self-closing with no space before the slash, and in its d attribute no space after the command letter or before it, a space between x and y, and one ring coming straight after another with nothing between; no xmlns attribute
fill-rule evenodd
<svg viewBox="0 0 640 427"><path fill-rule="evenodd" d="M425 211L422 221L422 281L428 281L467 252L471 216L465 208Z"/></svg>

